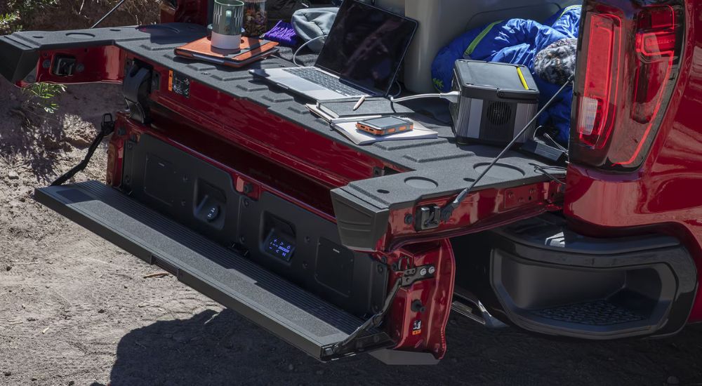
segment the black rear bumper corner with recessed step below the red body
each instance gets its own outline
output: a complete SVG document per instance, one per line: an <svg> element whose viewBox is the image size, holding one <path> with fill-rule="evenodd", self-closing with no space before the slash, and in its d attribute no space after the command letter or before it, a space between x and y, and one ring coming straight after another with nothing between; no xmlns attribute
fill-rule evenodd
<svg viewBox="0 0 702 386"><path fill-rule="evenodd" d="M453 241L459 275L485 272L461 276L458 286L505 321L594 340L670 335L687 323L697 273L673 237L584 237L555 215L487 233ZM471 250L479 256L461 264L461 251Z"/></svg>

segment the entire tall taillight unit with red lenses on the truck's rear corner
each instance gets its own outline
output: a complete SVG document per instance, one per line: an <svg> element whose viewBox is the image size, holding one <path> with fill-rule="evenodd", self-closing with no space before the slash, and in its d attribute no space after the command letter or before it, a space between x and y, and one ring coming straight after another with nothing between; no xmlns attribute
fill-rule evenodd
<svg viewBox="0 0 702 386"><path fill-rule="evenodd" d="M665 2L665 1L661 1ZM673 91L682 18L671 5L583 6L571 160L608 170L640 166Z"/></svg>

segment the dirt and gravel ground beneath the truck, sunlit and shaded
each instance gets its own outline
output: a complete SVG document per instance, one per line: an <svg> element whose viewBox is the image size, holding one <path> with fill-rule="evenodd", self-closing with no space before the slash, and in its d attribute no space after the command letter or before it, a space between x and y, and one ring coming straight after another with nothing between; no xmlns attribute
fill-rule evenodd
<svg viewBox="0 0 702 386"><path fill-rule="evenodd" d="M580 342L452 317L438 366L320 364L32 199L77 164L119 86L44 114L0 80L0 385L702 385L702 326ZM106 147L78 180L104 179Z"/></svg>

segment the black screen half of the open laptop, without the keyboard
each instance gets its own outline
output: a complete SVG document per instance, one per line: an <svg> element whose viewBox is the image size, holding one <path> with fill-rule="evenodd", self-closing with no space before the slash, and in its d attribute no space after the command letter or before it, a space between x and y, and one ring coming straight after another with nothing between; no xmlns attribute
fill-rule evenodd
<svg viewBox="0 0 702 386"><path fill-rule="evenodd" d="M315 65L385 95L416 29L415 20L346 0Z"/></svg>

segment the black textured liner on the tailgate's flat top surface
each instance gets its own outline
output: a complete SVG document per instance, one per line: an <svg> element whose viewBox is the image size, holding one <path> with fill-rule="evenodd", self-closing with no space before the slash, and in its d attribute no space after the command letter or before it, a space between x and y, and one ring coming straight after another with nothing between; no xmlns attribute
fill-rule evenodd
<svg viewBox="0 0 702 386"><path fill-rule="evenodd" d="M20 55L18 53L27 56L39 50L114 44L125 51L180 72L201 84L236 98L256 102L267 107L273 114L304 126L319 135L409 170L406 173L351 182L332 192L357 201L359 206L372 207L374 211L411 206L428 197L456 194L470 185L472 179L475 179L500 151L497 147L486 145L456 145L453 142L451 127L429 117L423 123L437 131L439 138L355 145L330 128L326 121L308 112L304 104L309 103L309 100L259 79L253 79L253 75L249 74L249 69L252 68L291 67L292 64L289 61L273 57L253 63L244 69L232 69L176 58L173 54L173 48L194 41L205 34L206 29L201 25L187 23L150 25L140 29L120 27L61 32L16 32L12 35L0 36L0 54L15 58L8 62L21 63L27 60L26 58L16 59L17 55ZM0 72L6 77L18 72L15 67L10 67L0 67ZM29 70L27 69L27 72ZM422 102L423 109L426 109L427 105L428 102ZM437 106L439 109L442 108L442 105ZM445 109L445 105L443 108ZM534 164L546 166L542 161L524 154L508 152L475 188L513 187L547 180L545 175L536 171ZM429 182L424 183L427 181Z"/></svg>

